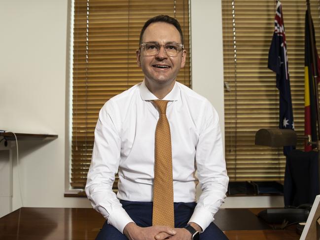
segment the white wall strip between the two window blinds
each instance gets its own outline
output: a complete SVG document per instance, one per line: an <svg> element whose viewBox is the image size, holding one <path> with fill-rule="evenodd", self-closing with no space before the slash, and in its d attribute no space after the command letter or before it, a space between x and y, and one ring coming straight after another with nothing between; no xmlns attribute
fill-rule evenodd
<svg viewBox="0 0 320 240"><path fill-rule="evenodd" d="M191 0L192 89L217 110L224 140L221 1Z"/></svg>

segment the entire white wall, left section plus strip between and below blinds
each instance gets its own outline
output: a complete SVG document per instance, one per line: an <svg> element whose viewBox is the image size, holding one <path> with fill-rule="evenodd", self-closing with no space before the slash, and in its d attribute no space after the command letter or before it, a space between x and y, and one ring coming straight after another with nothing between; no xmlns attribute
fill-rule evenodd
<svg viewBox="0 0 320 240"><path fill-rule="evenodd" d="M193 89L213 103L223 130L220 1L191 0L191 21ZM67 0L1 3L0 129L59 135L52 141L19 142L23 206L90 207L87 199L64 198L67 26ZM21 201L15 160L13 167L16 209ZM238 197L227 199L225 205L277 206L278 202Z"/></svg>

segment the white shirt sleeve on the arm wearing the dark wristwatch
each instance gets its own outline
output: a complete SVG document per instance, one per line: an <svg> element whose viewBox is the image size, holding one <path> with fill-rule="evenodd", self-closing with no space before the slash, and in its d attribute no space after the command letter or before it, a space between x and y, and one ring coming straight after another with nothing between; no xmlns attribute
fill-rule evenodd
<svg viewBox="0 0 320 240"><path fill-rule="evenodd" d="M206 105L206 121L199 135L196 166L202 194L189 222L197 223L204 231L214 220L214 214L224 202L229 177L223 155L223 144L218 114Z"/></svg>

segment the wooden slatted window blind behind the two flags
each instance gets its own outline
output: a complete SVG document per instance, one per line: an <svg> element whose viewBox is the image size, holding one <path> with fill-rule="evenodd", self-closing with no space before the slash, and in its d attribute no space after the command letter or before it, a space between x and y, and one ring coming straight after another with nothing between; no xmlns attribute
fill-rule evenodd
<svg viewBox="0 0 320 240"><path fill-rule="evenodd" d="M305 0L282 0L294 126L304 135ZM319 0L310 0L320 49ZM267 68L275 0L222 0L225 156L231 181L284 180L283 148L254 145L255 132L278 128L276 75ZM300 141L298 149L303 149Z"/></svg>

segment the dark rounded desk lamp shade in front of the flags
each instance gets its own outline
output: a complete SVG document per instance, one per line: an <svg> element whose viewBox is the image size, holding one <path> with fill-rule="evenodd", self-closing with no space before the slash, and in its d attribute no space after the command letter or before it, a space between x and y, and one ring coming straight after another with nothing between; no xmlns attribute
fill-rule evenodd
<svg viewBox="0 0 320 240"><path fill-rule="evenodd" d="M290 129L260 129L255 133L255 145L281 147L296 143L297 135Z"/></svg>

